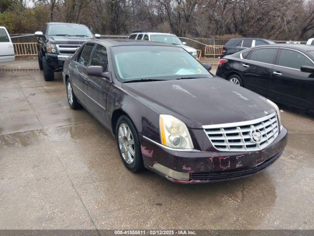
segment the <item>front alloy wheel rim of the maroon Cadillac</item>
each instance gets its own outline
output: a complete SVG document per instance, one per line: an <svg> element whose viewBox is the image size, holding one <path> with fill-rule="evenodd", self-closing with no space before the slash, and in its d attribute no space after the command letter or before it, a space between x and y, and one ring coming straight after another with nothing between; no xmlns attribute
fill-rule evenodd
<svg viewBox="0 0 314 236"><path fill-rule="evenodd" d="M128 124L121 123L118 131L119 148L123 159L131 165L134 161L134 139Z"/></svg>

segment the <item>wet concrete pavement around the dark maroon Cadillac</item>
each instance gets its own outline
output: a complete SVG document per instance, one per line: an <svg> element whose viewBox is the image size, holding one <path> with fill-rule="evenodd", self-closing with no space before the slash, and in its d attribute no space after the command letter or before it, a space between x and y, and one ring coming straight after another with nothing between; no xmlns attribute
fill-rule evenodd
<svg viewBox="0 0 314 236"><path fill-rule="evenodd" d="M288 146L272 166L180 185L127 171L60 74L0 72L0 229L313 229L314 118L281 109Z"/></svg>

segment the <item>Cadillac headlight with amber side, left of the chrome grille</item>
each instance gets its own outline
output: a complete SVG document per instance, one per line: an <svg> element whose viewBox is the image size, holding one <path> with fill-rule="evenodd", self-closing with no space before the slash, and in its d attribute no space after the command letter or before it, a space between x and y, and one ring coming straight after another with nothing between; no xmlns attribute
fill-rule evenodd
<svg viewBox="0 0 314 236"><path fill-rule="evenodd" d="M161 144L170 148L194 148L186 125L170 115L159 115Z"/></svg>

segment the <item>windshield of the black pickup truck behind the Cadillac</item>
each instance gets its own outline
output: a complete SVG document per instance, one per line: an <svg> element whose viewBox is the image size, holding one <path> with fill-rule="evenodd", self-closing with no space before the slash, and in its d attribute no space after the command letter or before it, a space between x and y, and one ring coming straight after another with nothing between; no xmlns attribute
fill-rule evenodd
<svg viewBox="0 0 314 236"><path fill-rule="evenodd" d="M48 35L93 37L91 31L83 25L55 24L48 28Z"/></svg>

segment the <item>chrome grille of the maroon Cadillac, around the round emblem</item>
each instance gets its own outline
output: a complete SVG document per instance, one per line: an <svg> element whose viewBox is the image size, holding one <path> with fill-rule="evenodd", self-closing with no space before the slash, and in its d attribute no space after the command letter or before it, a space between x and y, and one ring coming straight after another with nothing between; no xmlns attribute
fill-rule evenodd
<svg viewBox="0 0 314 236"><path fill-rule="evenodd" d="M256 151L266 148L278 136L276 113L249 121L203 126L214 148L220 151ZM252 133L261 134L259 142Z"/></svg>

